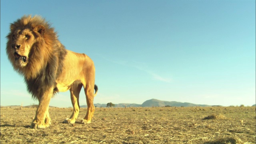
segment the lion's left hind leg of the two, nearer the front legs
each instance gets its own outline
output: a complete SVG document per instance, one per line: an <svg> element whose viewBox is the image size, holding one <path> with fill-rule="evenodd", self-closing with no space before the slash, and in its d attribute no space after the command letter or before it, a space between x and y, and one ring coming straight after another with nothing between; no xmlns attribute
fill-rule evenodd
<svg viewBox="0 0 256 144"><path fill-rule="evenodd" d="M76 122L76 118L79 114L79 109L80 109L79 93L81 91L82 86L83 86L82 84L78 84L78 85L73 85L70 88L70 98L73 105L73 113L70 116L70 118L66 118L66 120L64 120L64 123L74 124Z"/></svg>

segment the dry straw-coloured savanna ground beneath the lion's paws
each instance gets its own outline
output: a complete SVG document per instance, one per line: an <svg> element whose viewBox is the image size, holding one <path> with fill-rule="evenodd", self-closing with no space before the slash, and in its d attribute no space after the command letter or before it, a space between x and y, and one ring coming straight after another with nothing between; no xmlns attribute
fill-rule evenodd
<svg viewBox="0 0 256 144"><path fill-rule="evenodd" d="M1 108L1 144L255 144L254 107L96 108L90 124L64 124L72 108L50 108L52 125L30 129L36 108Z"/></svg>

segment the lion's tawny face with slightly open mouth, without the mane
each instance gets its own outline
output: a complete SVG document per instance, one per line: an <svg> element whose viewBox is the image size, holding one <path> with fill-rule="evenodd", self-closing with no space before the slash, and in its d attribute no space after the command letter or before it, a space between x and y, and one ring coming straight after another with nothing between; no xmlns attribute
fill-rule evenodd
<svg viewBox="0 0 256 144"><path fill-rule="evenodd" d="M29 60L29 52L36 42L33 32L30 29L15 30L10 41L10 54L13 54L16 66L26 66Z"/></svg>

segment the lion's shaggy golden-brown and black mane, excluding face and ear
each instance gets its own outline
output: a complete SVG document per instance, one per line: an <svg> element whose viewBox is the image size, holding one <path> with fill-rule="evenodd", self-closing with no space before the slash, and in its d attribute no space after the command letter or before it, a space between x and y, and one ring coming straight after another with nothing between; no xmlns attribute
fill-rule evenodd
<svg viewBox="0 0 256 144"><path fill-rule="evenodd" d="M33 31L38 25L44 26L43 34ZM15 59L11 52L12 35L15 30L25 28L32 30L36 36L36 42L28 54L28 64L24 67L18 67L15 65ZM24 76L28 92L32 94L33 98L40 100L48 88L55 87L55 80L62 72L62 62L67 53L66 49L59 42L54 28L40 16L23 16L12 23L10 29L11 32L6 36L8 39L6 47L8 59L14 66L14 70ZM56 92L54 90L54 93Z"/></svg>

